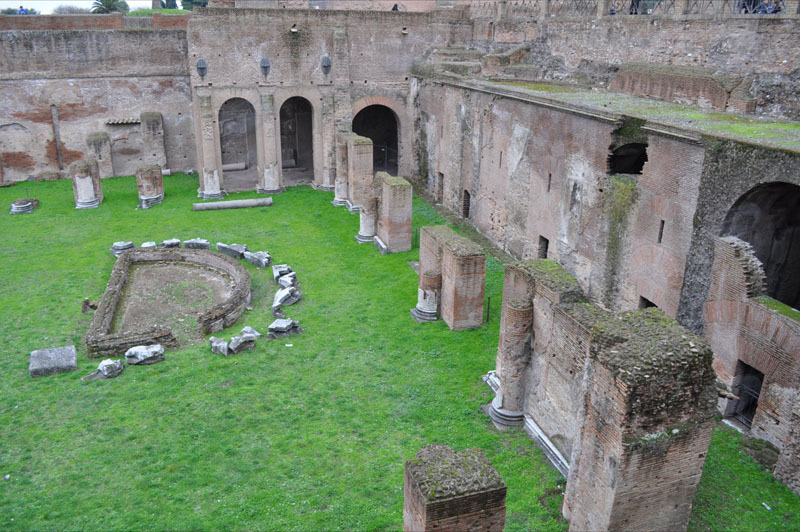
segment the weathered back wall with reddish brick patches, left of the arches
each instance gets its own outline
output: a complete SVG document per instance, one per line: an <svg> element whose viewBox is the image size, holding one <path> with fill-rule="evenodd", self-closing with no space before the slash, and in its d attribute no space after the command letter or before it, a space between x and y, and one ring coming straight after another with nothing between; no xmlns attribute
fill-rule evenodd
<svg viewBox="0 0 800 532"><path fill-rule="evenodd" d="M112 174L131 175L150 162L143 112L163 117L166 167L195 167L185 31L10 30L0 32L0 50L3 181L58 176L58 148L65 170L93 154L96 133L111 142Z"/></svg>

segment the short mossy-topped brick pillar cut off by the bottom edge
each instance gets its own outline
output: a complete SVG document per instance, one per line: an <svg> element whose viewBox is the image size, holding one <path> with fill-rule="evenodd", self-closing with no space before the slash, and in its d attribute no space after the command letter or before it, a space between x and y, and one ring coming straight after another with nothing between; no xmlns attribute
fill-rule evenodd
<svg viewBox="0 0 800 532"><path fill-rule="evenodd" d="M403 530L501 532L506 485L480 449L428 445L406 462Z"/></svg>

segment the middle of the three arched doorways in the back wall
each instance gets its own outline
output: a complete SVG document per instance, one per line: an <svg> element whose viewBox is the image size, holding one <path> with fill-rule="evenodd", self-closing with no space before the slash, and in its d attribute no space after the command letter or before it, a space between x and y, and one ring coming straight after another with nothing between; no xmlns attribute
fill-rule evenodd
<svg viewBox="0 0 800 532"><path fill-rule="evenodd" d="M314 180L313 108L300 96L281 106L281 161L286 186Z"/></svg>

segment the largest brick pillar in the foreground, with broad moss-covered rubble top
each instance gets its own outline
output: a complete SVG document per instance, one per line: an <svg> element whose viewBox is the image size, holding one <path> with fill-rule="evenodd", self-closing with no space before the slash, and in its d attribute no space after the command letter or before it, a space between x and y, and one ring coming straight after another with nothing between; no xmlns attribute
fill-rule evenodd
<svg viewBox="0 0 800 532"><path fill-rule="evenodd" d="M570 464L570 530L686 530L716 411L711 348L661 311L596 327ZM627 336L604 347L604 338Z"/></svg>

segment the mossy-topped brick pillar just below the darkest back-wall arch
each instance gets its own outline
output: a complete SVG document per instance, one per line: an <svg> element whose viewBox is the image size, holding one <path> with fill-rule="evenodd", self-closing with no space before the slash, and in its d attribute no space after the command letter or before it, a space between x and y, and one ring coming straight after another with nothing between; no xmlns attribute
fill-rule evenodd
<svg viewBox="0 0 800 532"><path fill-rule="evenodd" d="M378 239L389 253L411 250L411 183L380 172L381 207ZM376 242L377 244L377 242ZM378 245L381 247L380 244Z"/></svg>

